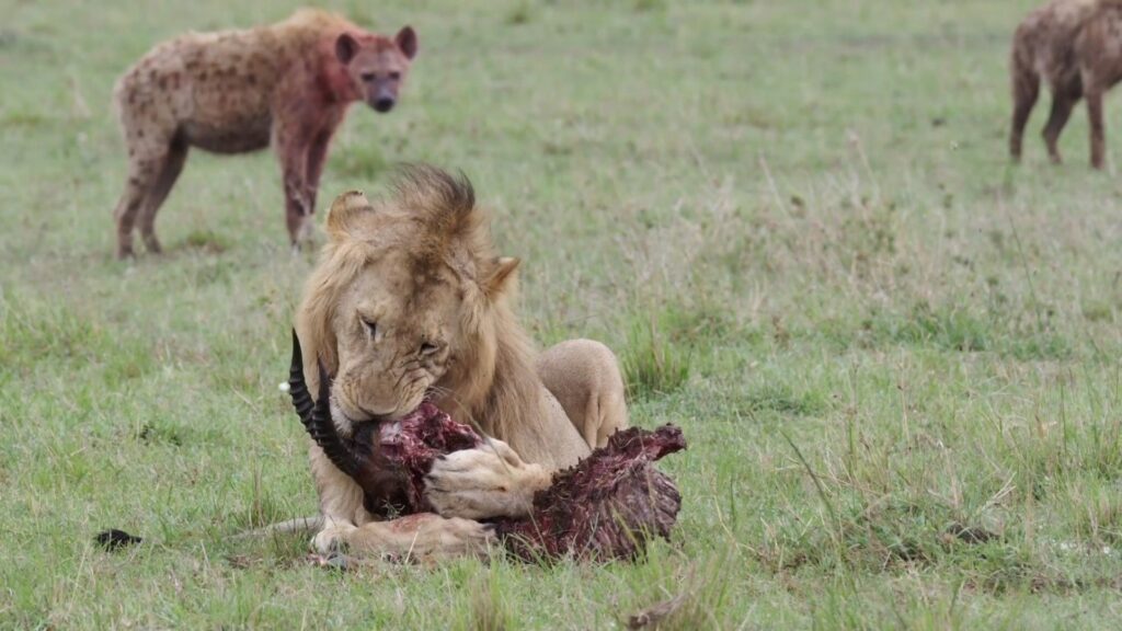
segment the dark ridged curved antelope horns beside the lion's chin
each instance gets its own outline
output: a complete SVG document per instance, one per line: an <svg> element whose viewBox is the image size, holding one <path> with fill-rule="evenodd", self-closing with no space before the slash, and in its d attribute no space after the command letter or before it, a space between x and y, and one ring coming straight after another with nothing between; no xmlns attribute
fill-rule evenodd
<svg viewBox="0 0 1122 631"><path fill-rule="evenodd" d="M359 456L343 442L335 430L335 423L331 420L331 378L328 371L320 366L320 392L316 400L312 401L312 395L307 392L307 384L304 382L304 354L300 348L300 338L296 337L296 329L292 330L292 367L288 369L288 393L292 395L292 404L300 414L300 422L304 423L304 429L312 440L323 449L323 454L331 460L331 464L339 467L339 470L355 477L359 470Z"/></svg>

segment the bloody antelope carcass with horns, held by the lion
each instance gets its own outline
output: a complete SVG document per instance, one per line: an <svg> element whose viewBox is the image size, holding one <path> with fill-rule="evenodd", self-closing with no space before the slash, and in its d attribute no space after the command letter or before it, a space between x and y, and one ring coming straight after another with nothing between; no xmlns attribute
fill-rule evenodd
<svg viewBox="0 0 1122 631"><path fill-rule="evenodd" d="M289 385L307 432L362 487L366 509L384 519L431 511L424 500L424 476L433 461L486 443L470 427L427 402L398 421L362 423L353 436L341 437L328 404L330 378L321 366L313 403L295 332ZM526 560L568 555L633 558L652 537L670 537L681 495L652 463L684 448L682 431L673 426L616 432L606 447L559 472L553 484L534 496L530 516L497 520L496 531L508 550Z"/></svg>

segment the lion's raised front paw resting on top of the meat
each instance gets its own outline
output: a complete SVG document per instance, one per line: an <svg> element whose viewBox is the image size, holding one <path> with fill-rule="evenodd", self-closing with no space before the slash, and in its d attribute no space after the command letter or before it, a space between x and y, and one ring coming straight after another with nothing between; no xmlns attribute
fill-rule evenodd
<svg viewBox="0 0 1122 631"><path fill-rule="evenodd" d="M519 518L530 513L534 493L550 484L540 465L526 464L511 446L490 440L433 463L425 476L425 499L443 516Z"/></svg>

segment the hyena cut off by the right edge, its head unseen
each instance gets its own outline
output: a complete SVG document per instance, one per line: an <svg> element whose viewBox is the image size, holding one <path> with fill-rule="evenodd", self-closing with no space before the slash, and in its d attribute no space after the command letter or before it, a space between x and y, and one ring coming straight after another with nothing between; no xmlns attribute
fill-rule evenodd
<svg viewBox="0 0 1122 631"><path fill-rule="evenodd" d="M1122 80L1122 0L1052 0L1029 13L1013 36L1013 129L1009 152L1021 157L1021 137L1040 80L1052 93L1043 136L1059 163L1056 141L1080 98L1091 119L1091 164L1103 167L1103 95Z"/></svg>

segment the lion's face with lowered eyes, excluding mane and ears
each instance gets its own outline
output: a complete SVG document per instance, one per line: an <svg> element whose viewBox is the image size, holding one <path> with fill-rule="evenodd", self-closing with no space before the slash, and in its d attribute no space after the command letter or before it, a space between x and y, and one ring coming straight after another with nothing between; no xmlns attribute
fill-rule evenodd
<svg viewBox="0 0 1122 631"><path fill-rule="evenodd" d="M448 267L421 267L393 248L342 292L332 322L339 349L332 393L350 420L413 411L461 350L463 281Z"/></svg>

